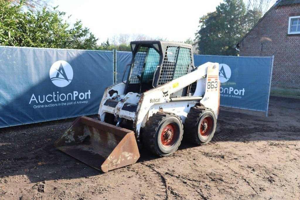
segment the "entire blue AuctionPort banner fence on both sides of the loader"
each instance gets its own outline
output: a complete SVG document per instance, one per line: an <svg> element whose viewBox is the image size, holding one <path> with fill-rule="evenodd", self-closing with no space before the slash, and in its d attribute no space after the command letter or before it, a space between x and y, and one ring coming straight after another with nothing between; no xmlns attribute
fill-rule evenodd
<svg viewBox="0 0 300 200"><path fill-rule="evenodd" d="M131 59L116 50L0 46L0 127L97 114ZM194 62L220 63L221 105L267 112L272 57L194 55Z"/></svg>

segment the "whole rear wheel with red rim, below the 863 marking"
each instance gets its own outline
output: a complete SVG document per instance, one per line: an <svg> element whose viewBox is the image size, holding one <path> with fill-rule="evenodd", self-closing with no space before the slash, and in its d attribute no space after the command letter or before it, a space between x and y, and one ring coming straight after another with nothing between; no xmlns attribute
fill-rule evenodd
<svg viewBox="0 0 300 200"><path fill-rule="evenodd" d="M194 144L206 144L216 131L216 117L208 108L194 106L184 123L184 138Z"/></svg>

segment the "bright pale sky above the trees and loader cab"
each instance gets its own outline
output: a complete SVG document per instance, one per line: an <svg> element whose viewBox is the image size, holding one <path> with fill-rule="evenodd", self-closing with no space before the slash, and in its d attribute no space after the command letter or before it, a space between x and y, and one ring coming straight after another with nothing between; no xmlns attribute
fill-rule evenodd
<svg viewBox="0 0 300 200"><path fill-rule="evenodd" d="M195 38L199 18L215 10L222 0L53 0L58 10L72 15L74 23L84 26L99 38L99 43L113 35L144 34L169 41Z"/></svg>

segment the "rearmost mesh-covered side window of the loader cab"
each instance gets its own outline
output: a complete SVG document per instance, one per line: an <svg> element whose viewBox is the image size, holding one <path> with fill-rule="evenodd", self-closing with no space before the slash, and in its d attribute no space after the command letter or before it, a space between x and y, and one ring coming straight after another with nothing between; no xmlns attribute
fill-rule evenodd
<svg viewBox="0 0 300 200"><path fill-rule="evenodd" d="M189 48L180 47L173 79L187 74L190 64L192 64L191 50Z"/></svg>

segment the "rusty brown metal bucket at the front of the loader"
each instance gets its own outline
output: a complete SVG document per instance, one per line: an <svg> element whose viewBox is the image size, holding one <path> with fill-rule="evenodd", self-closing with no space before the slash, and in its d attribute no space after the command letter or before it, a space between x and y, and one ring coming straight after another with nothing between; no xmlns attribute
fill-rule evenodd
<svg viewBox="0 0 300 200"><path fill-rule="evenodd" d="M78 117L55 147L103 172L134 164L140 157L133 131L89 117Z"/></svg>

